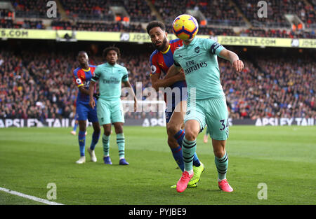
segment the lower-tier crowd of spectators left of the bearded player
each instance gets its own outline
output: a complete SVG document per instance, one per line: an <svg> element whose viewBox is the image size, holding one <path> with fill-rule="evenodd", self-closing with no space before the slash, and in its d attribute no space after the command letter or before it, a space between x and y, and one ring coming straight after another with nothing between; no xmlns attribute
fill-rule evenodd
<svg viewBox="0 0 316 219"><path fill-rule="evenodd" d="M148 55L147 55L148 56ZM129 80L151 85L147 56L126 55L119 64L129 69ZM101 64L101 57L90 57L90 64ZM77 68L74 54L10 50L0 52L0 118L69 118L73 117L77 87L72 78Z"/></svg>

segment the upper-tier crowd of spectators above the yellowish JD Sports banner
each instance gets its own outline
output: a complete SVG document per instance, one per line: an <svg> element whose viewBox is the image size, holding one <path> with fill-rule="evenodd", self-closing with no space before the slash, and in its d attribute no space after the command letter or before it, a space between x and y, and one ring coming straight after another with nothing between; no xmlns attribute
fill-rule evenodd
<svg viewBox="0 0 316 219"><path fill-rule="evenodd" d="M60 9L57 17L45 25L40 19L47 18L46 1L10 2L15 16L11 10L0 9L0 28L145 32L145 24L142 26L140 23L157 20L156 15L159 15L171 32L169 27L177 15L199 11L204 15L204 18L195 16L200 22L199 34L316 38L315 0L268 1L267 17L258 17L260 6L257 0L151 0L150 4L144 0L60 0L58 7L62 7L66 18L60 16ZM114 12L112 7L124 8L126 13ZM291 26L286 14L296 15L301 23L296 21ZM24 20L15 20L14 17ZM246 20L252 27L246 26Z"/></svg>

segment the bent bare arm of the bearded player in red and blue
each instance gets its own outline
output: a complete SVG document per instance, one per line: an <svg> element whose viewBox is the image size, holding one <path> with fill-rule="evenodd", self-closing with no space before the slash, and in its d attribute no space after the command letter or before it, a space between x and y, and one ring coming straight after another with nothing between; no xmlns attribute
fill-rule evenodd
<svg viewBox="0 0 316 219"><path fill-rule="evenodd" d="M184 73L181 74L179 72L180 71L179 71L178 67L172 65L169 68L168 73L166 73L166 76L169 75L168 78L166 78L166 76L165 76L163 79L159 79L160 74L158 74L158 73L152 74L152 76L151 76L152 87L154 87L154 90L158 91L159 87L169 87L179 80L185 80Z"/></svg>

